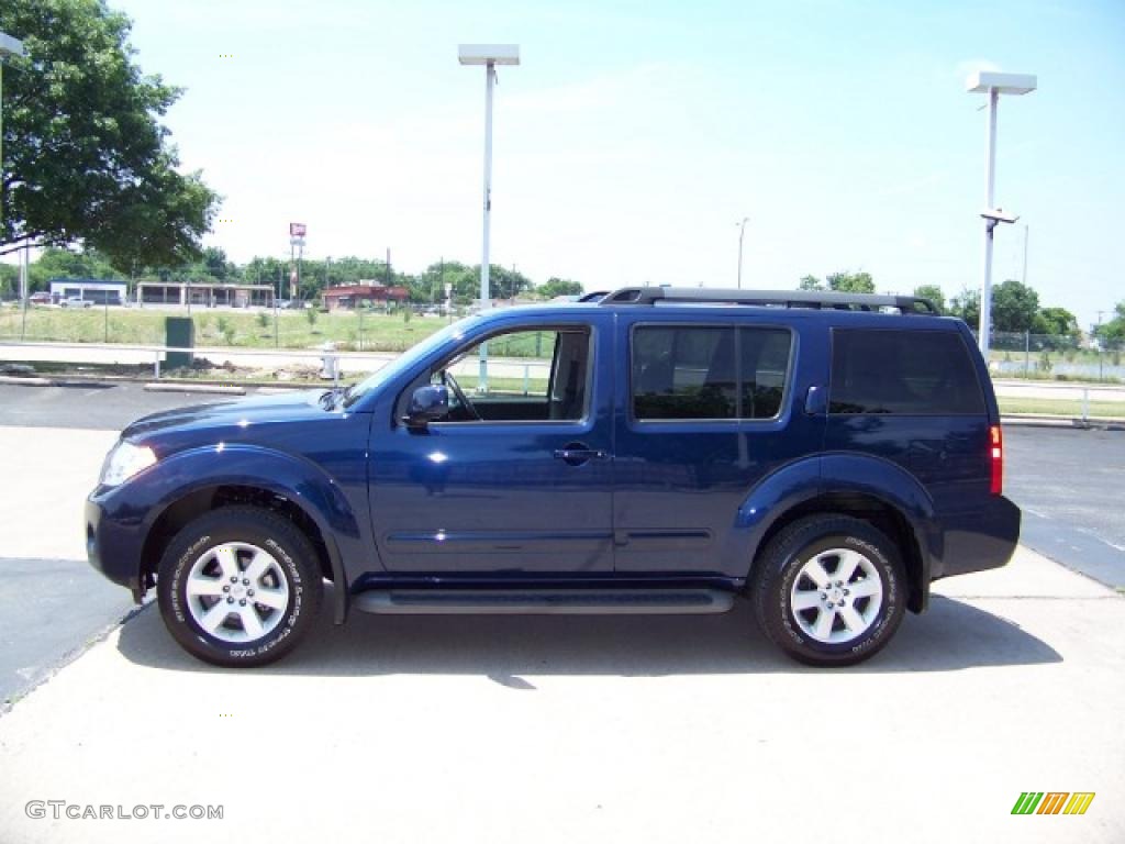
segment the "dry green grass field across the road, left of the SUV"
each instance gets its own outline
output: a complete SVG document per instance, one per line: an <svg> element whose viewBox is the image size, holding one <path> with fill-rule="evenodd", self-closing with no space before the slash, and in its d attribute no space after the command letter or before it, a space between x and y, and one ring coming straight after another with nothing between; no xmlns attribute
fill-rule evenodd
<svg viewBox="0 0 1125 844"><path fill-rule="evenodd" d="M315 312L314 312L315 313ZM0 308L0 340L54 341L62 343L123 343L163 345L164 321L187 312L143 308L32 307L27 322L17 308ZM333 341L341 351L405 351L447 324L438 316L363 312L316 313L309 323L305 312L199 311L192 309L197 347L250 349L309 349Z"/></svg>

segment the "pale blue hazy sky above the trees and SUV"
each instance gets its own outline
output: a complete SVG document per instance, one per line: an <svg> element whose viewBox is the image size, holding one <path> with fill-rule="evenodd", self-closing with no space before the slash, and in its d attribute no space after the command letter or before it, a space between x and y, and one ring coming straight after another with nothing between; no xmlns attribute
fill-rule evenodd
<svg viewBox="0 0 1125 844"><path fill-rule="evenodd" d="M1125 299L1125 2L109 0L136 61L182 86L184 169L223 197L207 245L238 262L390 250L417 272L482 250L485 73L493 263L587 290L745 287L871 272L880 290L979 287L986 111L1001 98L993 279L1083 327Z"/></svg>

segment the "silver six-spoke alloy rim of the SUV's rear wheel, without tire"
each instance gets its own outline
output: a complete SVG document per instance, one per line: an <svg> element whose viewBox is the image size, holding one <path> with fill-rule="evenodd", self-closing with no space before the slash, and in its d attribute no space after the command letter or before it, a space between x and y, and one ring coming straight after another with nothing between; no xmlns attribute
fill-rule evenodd
<svg viewBox="0 0 1125 844"><path fill-rule="evenodd" d="M857 639L882 605L879 571L849 548L829 548L811 557L790 590L790 607L801 631L828 645Z"/></svg>

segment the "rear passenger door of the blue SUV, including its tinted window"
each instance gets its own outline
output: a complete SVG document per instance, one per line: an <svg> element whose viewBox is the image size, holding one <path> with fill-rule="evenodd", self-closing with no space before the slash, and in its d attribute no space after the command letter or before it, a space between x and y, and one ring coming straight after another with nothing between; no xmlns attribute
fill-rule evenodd
<svg viewBox="0 0 1125 844"><path fill-rule="evenodd" d="M820 447L824 417L804 415L806 385L793 377L799 332L768 315L752 324L701 313L691 323L658 311L620 317L618 573L745 576L739 505L765 475Z"/></svg>

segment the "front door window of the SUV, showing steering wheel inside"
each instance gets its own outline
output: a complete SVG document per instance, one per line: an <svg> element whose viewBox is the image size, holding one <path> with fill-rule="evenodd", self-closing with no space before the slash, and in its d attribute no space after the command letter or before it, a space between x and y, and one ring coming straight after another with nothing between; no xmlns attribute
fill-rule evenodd
<svg viewBox="0 0 1125 844"><path fill-rule="evenodd" d="M439 422L577 422L586 415L591 331L523 329L460 350L432 372L449 388Z"/></svg>

